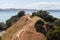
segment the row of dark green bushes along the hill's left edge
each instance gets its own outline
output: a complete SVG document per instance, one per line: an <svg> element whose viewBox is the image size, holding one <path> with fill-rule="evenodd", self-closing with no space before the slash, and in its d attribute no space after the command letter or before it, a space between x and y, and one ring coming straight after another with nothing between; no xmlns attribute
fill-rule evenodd
<svg viewBox="0 0 60 40"><path fill-rule="evenodd" d="M17 22L24 14L24 11L20 11L17 15L12 16L10 19L8 19L6 21L7 27L10 27L14 22Z"/></svg>

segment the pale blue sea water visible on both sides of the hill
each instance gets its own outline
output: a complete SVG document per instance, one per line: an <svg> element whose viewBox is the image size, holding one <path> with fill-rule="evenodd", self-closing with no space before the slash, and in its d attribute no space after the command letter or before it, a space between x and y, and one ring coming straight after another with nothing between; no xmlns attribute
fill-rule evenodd
<svg viewBox="0 0 60 40"><path fill-rule="evenodd" d="M0 22L6 22L7 19L9 19L11 16L14 16L19 11L9 11L9 12L1 12L0 11ZM32 14L31 11L25 11L27 14ZM60 18L60 11L49 11L50 15L53 15L54 17Z"/></svg>

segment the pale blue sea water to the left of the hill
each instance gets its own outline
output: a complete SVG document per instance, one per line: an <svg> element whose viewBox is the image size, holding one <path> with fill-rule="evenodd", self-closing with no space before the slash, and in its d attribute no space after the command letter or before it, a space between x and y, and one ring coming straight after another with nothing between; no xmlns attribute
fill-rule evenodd
<svg viewBox="0 0 60 40"><path fill-rule="evenodd" d="M11 16L14 16L18 13L18 11L10 11L10 12L1 12L0 11L0 22L5 22Z"/></svg>

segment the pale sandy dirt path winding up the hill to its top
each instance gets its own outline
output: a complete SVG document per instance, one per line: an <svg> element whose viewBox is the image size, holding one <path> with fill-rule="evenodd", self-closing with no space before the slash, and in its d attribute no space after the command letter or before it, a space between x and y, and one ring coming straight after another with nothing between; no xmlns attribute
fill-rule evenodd
<svg viewBox="0 0 60 40"><path fill-rule="evenodd" d="M30 22L32 21L32 19L28 16L24 16L24 17L26 17ZM28 22L28 24L30 23L30 22ZM28 25L27 24L27 25ZM27 25L25 25L25 26L23 26L23 28L21 29L21 30L18 30L15 34L13 34L12 35L12 40L15 40L15 38L17 37L18 38L18 40L21 40L20 39L20 37L19 37L19 35L22 33L22 32L24 32L24 31L26 31L29 27L27 27ZM30 24L31 25L31 24Z"/></svg>

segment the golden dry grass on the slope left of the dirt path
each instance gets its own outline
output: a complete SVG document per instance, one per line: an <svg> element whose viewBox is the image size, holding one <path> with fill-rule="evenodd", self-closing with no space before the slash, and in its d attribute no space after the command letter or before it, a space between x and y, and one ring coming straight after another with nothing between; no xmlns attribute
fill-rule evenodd
<svg viewBox="0 0 60 40"><path fill-rule="evenodd" d="M26 18L22 17L18 22L14 23L6 32L2 35L2 40L10 40L12 35L22 28L26 24Z"/></svg>

